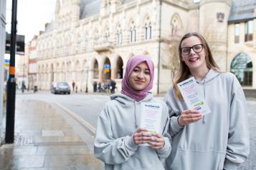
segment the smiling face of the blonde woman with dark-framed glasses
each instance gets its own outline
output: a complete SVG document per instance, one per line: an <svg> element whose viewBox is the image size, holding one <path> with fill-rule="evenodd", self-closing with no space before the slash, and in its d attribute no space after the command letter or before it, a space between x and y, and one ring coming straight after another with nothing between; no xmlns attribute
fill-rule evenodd
<svg viewBox="0 0 256 170"><path fill-rule="evenodd" d="M202 41L197 36L189 36L181 42L181 49L185 48L185 54L181 53L181 60L186 63L189 70L207 69L204 46L202 46L203 49L200 49L199 44L202 44ZM193 47L190 48L189 54L187 54L189 48L186 47Z"/></svg>

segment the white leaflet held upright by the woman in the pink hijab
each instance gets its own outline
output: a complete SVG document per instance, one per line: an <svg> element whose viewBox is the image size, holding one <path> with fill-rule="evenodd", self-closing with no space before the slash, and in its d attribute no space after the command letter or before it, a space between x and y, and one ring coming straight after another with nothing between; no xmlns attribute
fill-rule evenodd
<svg viewBox="0 0 256 170"><path fill-rule="evenodd" d="M161 104L142 102L140 127L148 129L150 133L159 133L161 128L161 114Z"/></svg>

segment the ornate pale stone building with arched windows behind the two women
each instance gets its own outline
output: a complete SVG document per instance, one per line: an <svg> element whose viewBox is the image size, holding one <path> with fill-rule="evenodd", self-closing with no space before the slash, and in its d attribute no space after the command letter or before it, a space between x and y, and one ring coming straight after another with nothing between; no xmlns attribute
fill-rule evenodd
<svg viewBox="0 0 256 170"><path fill-rule="evenodd" d="M255 0L57 0L37 38L37 85L74 80L79 91L93 91L94 81L113 79L120 91L128 59L146 54L155 64L153 92L165 92L179 66L179 39L199 31L221 69L256 89L255 7Z"/></svg>

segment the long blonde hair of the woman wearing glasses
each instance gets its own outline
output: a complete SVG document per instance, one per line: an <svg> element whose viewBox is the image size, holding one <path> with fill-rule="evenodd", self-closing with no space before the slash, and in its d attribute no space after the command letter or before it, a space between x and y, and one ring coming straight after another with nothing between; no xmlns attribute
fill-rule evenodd
<svg viewBox="0 0 256 170"><path fill-rule="evenodd" d="M205 53L205 61L207 63L207 68L208 69L214 69L219 71L219 66L216 64L216 62L214 61L213 57L212 57L212 52L211 49L209 48L209 45L207 44L207 41L204 39L204 37L197 33L197 32L189 32L187 34L185 34L181 41L179 42L179 70L177 72L177 74L174 76L173 79L173 83L174 83L174 92L176 94L176 96L178 97L178 99L183 100L183 97L181 95L181 92L179 91L178 85L181 81L184 81L186 79L189 78L190 76L190 71L189 71L189 67L186 66L185 62L182 61L182 54L181 54L181 43L182 41L184 41L184 39L189 38L190 36L196 36L197 38L200 39L200 41L202 41L203 44L203 48L204 48L204 53Z"/></svg>

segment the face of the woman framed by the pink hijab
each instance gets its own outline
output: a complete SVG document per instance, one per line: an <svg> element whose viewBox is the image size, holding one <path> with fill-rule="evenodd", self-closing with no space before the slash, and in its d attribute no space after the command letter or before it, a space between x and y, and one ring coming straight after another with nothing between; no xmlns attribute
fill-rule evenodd
<svg viewBox="0 0 256 170"><path fill-rule="evenodd" d="M134 67L129 76L130 86L138 91L145 89L150 82L150 71L146 62Z"/></svg>

